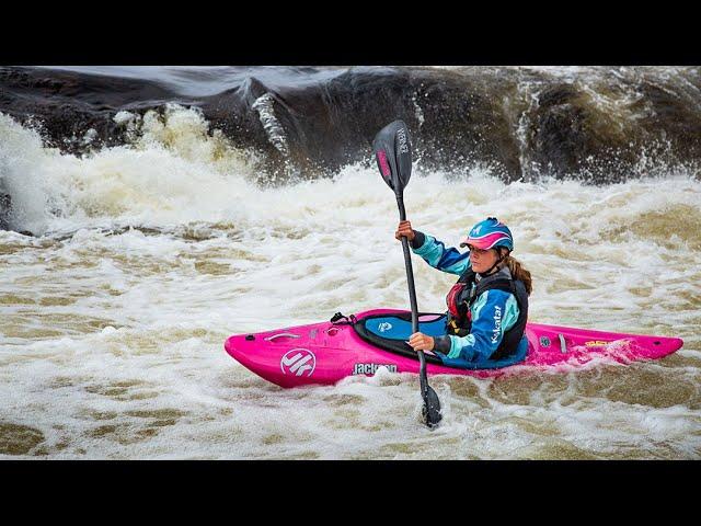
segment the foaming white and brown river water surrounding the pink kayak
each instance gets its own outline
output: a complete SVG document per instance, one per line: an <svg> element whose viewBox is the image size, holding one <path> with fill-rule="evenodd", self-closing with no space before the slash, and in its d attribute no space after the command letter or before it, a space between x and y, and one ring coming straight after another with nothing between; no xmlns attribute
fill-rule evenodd
<svg viewBox="0 0 701 526"><path fill-rule="evenodd" d="M376 170L261 190L248 153L196 112L141 126L79 159L0 115L13 226L43 233L0 232L2 458L701 457L699 181L505 185L418 167L416 228L455 245L487 215L509 224L531 321L685 339L656 363L433 378L445 419L428 432L416 377L284 390L222 348L232 333L406 307ZM452 277L414 271L420 308L443 310Z"/></svg>

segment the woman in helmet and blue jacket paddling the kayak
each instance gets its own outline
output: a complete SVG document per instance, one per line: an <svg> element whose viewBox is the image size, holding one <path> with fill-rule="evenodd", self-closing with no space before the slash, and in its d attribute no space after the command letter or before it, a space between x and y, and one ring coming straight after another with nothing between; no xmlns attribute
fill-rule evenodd
<svg viewBox="0 0 701 526"><path fill-rule="evenodd" d="M430 266L460 276L446 297L446 335L416 332L410 345L415 351L433 351L452 367L525 358L528 340L524 330L532 285L530 272L510 255L514 239L508 227L494 217L478 222L460 243L469 250L464 253L412 229L410 221L400 221L394 237L402 236Z"/></svg>

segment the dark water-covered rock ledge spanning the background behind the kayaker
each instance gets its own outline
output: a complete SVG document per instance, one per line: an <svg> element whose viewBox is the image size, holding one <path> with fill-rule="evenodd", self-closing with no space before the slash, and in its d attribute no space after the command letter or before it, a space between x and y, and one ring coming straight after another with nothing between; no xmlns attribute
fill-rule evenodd
<svg viewBox="0 0 701 526"><path fill-rule="evenodd" d="M311 78L322 68L291 69ZM38 123L48 146L81 155L129 140L114 122L119 111L196 106L233 146L258 153L262 183L369 165L375 134L395 118L409 125L422 169L479 162L506 181L604 183L643 175L646 151L660 163L701 158L698 68L590 68L574 80L527 68L336 68L323 80L275 84L251 70L215 95L184 96L148 80L2 67L0 112ZM89 129L92 144L81 140Z"/></svg>

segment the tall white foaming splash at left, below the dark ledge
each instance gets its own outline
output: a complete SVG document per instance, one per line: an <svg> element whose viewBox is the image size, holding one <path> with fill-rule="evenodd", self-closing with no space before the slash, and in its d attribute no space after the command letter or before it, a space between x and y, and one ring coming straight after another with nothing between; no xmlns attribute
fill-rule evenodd
<svg viewBox="0 0 701 526"><path fill-rule="evenodd" d="M113 220L166 224L235 218L252 192L255 158L209 133L195 108L120 113L131 142L78 157L0 114L0 167L11 227L42 233Z"/></svg>

